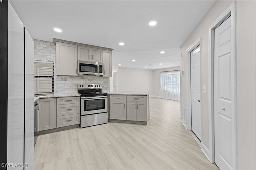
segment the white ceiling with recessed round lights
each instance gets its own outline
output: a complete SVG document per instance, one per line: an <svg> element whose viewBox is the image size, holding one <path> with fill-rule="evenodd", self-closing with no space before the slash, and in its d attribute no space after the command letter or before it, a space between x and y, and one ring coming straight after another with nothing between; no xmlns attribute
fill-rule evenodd
<svg viewBox="0 0 256 170"><path fill-rule="evenodd" d="M58 38L113 48L112 68L141 69L179 66L180 46L214 2L11 0L33 39L52 42L52 38ZM148 25L152 20L157 22L156 26ZM145 68L148 64L153 66Z"/></svg>

